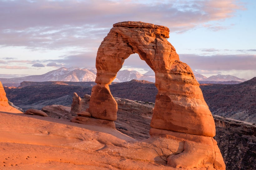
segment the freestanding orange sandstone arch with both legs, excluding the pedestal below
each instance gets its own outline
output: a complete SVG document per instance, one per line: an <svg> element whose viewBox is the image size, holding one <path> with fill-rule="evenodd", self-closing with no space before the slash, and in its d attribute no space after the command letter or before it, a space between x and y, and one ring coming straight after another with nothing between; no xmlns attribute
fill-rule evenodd
<svg viewBox="0 0 256 170"><path fill-rule="evenodd" d="M99 96L111 96L108 84L115 79L124 60L130 54L138 53L155 71L158 88L151 127L213 137L214 120L199 83L190 67L179 61L175 48L166 40L168 32L167 27L144 22L126 21L113 25L97 52L97 85L92 90L89 112L92 117L116 119L115 110L107 112L111 109L109 101L113 99L100 100L102 96ZM103 94L99 88L105 86ZM112 106L116 108L115 104Z"/></svg>

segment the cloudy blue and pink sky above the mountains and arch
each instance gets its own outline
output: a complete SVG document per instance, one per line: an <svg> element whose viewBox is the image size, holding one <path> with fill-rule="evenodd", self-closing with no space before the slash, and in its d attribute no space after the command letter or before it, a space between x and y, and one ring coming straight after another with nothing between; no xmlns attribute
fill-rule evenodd
<svg viewBox="0 0 256 170"><path fill-rule="evenodd" d="M170 29L180 61L204 76L256 76L254 0L0 0L0 78L60 67L95 68L114 23L143 21ZM122 67L150 70L137 54Z"/></svg>

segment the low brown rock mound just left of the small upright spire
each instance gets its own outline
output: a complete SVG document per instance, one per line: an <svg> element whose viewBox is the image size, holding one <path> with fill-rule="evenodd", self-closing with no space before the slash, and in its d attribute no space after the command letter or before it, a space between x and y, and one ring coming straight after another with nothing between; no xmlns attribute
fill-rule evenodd
<svg viewBox="0 0 256 170"><path fill-rule="evenodd" d="M50 105L42 108L42 111L47 113L49 117L57 119L71 120L74 116L71 115L71 108L62 105Z"/></svg>

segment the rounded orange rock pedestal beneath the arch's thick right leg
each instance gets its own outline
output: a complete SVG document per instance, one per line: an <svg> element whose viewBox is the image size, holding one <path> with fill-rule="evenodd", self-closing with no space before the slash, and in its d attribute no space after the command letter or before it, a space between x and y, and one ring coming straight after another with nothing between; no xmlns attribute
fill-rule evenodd
<svg viewBox="0 0 256 170"><path fill-rule="evenodd" d="M182 152L171 154L167 158L167 164L175 168L209 168L225 169L219 147L213 137L191 135L186 133L166 131L162 129L150 129L150 135L157 137L169 136L181 141Z"/></svg>

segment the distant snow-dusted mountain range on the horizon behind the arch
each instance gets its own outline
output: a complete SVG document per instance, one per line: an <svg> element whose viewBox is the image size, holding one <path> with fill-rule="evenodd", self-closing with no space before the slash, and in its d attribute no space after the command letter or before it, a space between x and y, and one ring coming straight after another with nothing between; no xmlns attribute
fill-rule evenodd
<svg viewBox="0 0 256 170"><path fill-rule="evenodd" d="M235 76L230 75L216 75L205 77L198 72L194 71L194 76L200 84L211 83L211 84L238 84L245 79L240 79ZM96 78L96 68L77 68L77 67L61 67L57 70L47 72L42 75L25 76L25 77L15 77L15 78L0 78L3 86L15 86L18 87L22 81L95 81ZM141 74L138 71L121 70L118 71L116 79L114 82L126 82L130 80L147 80L150 82L155 82L155 73L153 70Z"/></svg>

